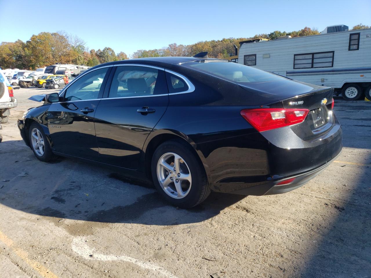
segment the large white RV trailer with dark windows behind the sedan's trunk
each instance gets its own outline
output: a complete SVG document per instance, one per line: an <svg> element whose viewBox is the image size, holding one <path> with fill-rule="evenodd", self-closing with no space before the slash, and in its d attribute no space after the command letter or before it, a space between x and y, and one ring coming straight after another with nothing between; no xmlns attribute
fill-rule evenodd
<svg viewBox="0 0 371 278"><path fill-rule="evenodd" d="M238 63L335 88L346 100L371 94L371 29L329 26L319 35L240 42Z"/></svg>

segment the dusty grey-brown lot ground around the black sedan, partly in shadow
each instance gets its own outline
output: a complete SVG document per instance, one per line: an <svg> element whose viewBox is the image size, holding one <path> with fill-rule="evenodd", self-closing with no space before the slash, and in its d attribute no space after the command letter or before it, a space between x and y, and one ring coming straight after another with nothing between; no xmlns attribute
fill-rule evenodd
<svg viewBox="0 0 371 278"><path fill-rule="evenodd" d="M17 119L53 91L14 90L0 130L0 277L371 277L371 102L335 99L344 149L301 188L177 209L110 169L37 160Z"/></svg>

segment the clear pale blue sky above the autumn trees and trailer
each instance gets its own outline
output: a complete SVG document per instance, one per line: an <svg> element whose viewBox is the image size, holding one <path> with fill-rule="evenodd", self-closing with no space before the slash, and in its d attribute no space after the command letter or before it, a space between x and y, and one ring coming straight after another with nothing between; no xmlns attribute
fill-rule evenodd
<svg viewBox="0 0 371 278"><path fill-rule="evenodd" d="M65 3L68 8L63 11L63 1L0 0L0 42L17 39L25 42L32 34L64 30L85 40L89 49L109 46L116 53L132 54L138 49L161 48L170 43L250 37L305 26L321 32L335 24L371 25L370 0L75 0ZM53 12L54 6L57 13ZM37 10L39 14L35 13Z"/></svg>

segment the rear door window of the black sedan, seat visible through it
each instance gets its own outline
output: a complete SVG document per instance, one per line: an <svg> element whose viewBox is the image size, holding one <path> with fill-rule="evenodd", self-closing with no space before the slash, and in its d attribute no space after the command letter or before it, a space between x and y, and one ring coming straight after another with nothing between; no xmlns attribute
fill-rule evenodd
<svg viewBox="0 0 371 278"><path fill-rule="evenodd" d="M142 66L118 66L108 97L152 96L168 93L164 70Z"/></svg>

